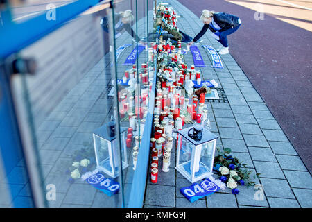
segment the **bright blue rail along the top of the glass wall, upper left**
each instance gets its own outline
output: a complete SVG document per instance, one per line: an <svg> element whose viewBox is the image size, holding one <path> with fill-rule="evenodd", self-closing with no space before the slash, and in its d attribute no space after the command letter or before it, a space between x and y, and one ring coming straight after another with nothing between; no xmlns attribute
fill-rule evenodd
<svg viewBox="0 0 312 222"><path fill-rule="evenodd" d="M0 58L6 58L12 53L25 48L41 37L60 28L64 22L80 15L92 6L98 3L108 3L109 0L77 0L60 8L56 8L57 19L47 20L46 14L38 15L25 22L16 24L10 22L8 25L0 28Z"/></svg>

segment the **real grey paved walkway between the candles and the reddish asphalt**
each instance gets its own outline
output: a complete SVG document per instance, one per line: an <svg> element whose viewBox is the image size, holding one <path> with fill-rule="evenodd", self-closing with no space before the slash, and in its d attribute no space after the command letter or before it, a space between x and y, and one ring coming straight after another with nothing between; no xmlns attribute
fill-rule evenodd
<svg viewBox="0 0 312 222"><path fill-rule="evenodd" d="M195 36L202 28L200 19L177 1L166 2L181 16L177 26ZM261 96L231 55L221 56L224 69L211 68L210 55L200 45L217 48L220 44L209 31L202 40L198 48L207 65L200 68L202 74L205 80L215 79L220 83L228 99L228 103L207 104L212 131L220 136L218 146L231 148L232 155L247 163L254 173L261 173L254 182L263 186L265 197L254 200L254 187L239 186L241 192L237 195L227 188L189 203L179 189L191 183L175 171L173 160L168 173L159 169L157 185L148 178L144 207L312 207L311 175ZM190 53L185 56L185 62L193 65Z"/></svg>

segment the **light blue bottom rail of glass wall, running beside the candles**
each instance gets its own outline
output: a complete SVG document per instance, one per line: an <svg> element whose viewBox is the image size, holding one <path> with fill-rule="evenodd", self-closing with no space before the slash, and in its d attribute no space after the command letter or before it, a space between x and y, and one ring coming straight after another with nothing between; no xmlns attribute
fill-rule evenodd
<svg viewBox="0 0 312 222"><path fill-rule="evenodd" d="M154 76L157 76L157 69L155 69ZM144 126L144 133L141 142L141 149L137 157L137 167L132 180L132 187L130 191L130 198L128 203L128 208L142 208L144 202L144 194L146 187L146 177L148 176L148 157L150 154L150 136L152 133L153 124L153 112L155 106L155 88L156 79L153 79L152 93L150 94L148 112L146 117L146 123Z"/></svg>

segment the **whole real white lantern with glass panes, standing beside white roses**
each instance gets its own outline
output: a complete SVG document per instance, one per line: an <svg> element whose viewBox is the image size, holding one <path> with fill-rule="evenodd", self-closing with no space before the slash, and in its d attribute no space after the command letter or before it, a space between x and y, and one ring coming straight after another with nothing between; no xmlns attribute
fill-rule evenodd
<svg viewBox="0 0 312 222"><path fill-rule="evenodd" d="M202 138L196 141L189 137L191 128L193 127L184 128L177 132L177 164L175 169L193 183L212 175L218 137L204 128Z"/></svg>

